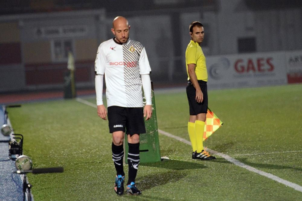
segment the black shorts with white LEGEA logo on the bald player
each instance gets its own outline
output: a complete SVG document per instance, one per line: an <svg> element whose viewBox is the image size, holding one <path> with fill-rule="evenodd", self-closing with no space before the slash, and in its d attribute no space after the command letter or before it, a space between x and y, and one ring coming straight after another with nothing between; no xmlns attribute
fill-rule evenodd
<svg viewBox="0 0 302 201"><path fill-rule="evenodd" d="M110 106L108 110L109 132L127 131L127 134L146 133L143 108Z"/></svg>

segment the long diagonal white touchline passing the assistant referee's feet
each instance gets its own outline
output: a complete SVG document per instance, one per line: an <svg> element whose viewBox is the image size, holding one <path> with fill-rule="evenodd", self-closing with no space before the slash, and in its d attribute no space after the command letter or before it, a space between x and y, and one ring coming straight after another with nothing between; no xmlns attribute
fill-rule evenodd
<svg viewBox="0 0 302 201"><path fill-rule="evenodd" d="M76 100L79 101L79 102L81 102L81 103L84 103L84 104L86 104L86 105L89 105L89 106L92 106L92 107L96 108L96 105L93 104L93 103L91 103L91 102L85 101L85 100L80 99L80 98L77 98ZM171 138L173 138L173 139L175 139L175 140L178 140L178 141L181 141L181 142L183 142L183 143L185 143L185 144L191 145L191 142L189 142L188 140L185 140L185 139L183 139L183 138L181 138L181 137L172 135L171 133L168 133L168 132L165 132L165 131L159 130L159 129L158 129L158 132L159 132L160 134L162 134L162 135L167 136L167 137L171 137ZM272 179L272 180L274 180L274 181L278 181L278 182L281 183L281 184L284 184L284 185L286 185L286 186L288 186L288 187L291 187L291 188L293 188L293 189L295 189L295 190L297 190L297 191L302 192L302 186L300 186L300 185L298 185L298 184L292 183L292 182L290 182L290 181L281 179L280 177L277 177L277 176L275 176L275 175L273 175L273 174L270 174L270 173L267 173L267 172L258 170L258 169L256 169L256 168L253 168L252 166L246 165L246 164L244 164L243 162L240 162L240 161L238 161L238 160L232 158L232 157L229 156L229 155L226 155L226 154L217 152L217 151L212 150L212 149L209 149L209 148L207 148L207 150L208 150L209 152L215 154L215 155L219 155L220 157L226 159L227 161L229 161L229 162L231 162L231 163L233 163L233 164L235 164L235 165L238 165L238 166L241 167L241 168L245 168L245 169L247 169L247 170L249 170L249 171L251 171L251 172L255 172L255 173L260 174L260 175L262 175L262 176L268 177L268 178L270 178L270 179Z"/></svg>

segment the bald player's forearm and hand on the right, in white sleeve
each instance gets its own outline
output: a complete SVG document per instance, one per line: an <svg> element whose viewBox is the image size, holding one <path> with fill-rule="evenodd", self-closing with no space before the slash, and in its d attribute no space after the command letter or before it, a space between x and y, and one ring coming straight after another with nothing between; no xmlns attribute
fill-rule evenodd
<svg viewBox="0 0 302 201"><path fill-rule="evenodd" d="M150 119L152 116L152 100L151 100L151 80L150 75L140 75L143 84L144 95L146 98L146 105L144 107L144 117L146 120Z"/></svg>

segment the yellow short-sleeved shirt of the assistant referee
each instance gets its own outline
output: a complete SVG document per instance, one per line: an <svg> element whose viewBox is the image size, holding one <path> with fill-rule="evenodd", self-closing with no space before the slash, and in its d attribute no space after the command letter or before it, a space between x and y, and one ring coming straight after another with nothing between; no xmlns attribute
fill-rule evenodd
<svg viewBox="0 0 302 201"><path fill-rule="evenodd" d="M189 80L190 77L188 73L188 64L196 65L195 73L197 80L204 80L207 82L206 58L204 56L204 53L202 52L201 46L193 40L190 41L186 49L186 68Z"/></svg>

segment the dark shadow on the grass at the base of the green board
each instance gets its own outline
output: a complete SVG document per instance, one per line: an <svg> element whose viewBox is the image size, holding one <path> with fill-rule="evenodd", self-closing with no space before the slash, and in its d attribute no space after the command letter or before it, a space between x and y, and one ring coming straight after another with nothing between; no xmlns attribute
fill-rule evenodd
<svg viewBox="0 0 302 201"><path fill-rule="evenodd" d="M172 169L172 170L188 170L188 169L201 169L206 168L204 164L178 161L178 160L163 160L162 162L156 163L143 163L141 166L149 166L156 168Z"/></svg>

